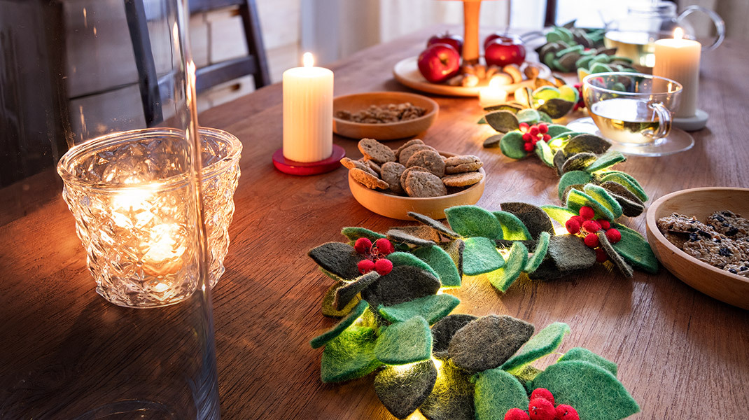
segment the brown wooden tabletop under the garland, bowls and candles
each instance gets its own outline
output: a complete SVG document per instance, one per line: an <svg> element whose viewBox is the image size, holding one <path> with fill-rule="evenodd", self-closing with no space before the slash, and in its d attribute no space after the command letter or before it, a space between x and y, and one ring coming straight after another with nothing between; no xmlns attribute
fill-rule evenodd
<svg viewBox="0 0 749 420"><path fill-rule="evenodd" d="M392 79L392 66L418 54L431 32L330 66L336 95L406 90ZM748 66L742 43L728 40L706 54L700 107L711 119L709 128L693 133L694 148L631 157L620 165L651 198L697 186L749 186ZM435 99L440 115L423 139L439 150L483 159L487 188L479 205L498 210L504 201L559 204L553 170L536 159L516 162L482 148L491 129L476 125L482 114L477 100ZM409 223L357 204L343 168L315 177L274 170L270 156L282 140L280 85L210 109L200 122L234 133L245 147L227 270L213 292L223 418L391 419L377 400L372 376L321 383L321 350L312 350L308 341L336 320L320 314L330 280L306 252L342 240L345 226L386 231ZM356 141L335 141L348 156L360 156ZM0 392L12 389L19 374L39 368L34 360L40 354L83 351L70 336L76 315L106 306L94 293L59 189L52 199L23 190L0 191L4 202L15 204L0 213ZM644 232L644 216L626 223ZM46 240L49 235L54 240ZM513 286L503 295L485 284L465 284L458 296L459 312L510 314L537 328L568 323L572 332L560 351L582 346L616 362L619 380L642 407L632 419L749 418L749 312L703 295L665 270L625 279L597 267L561 281ZM7 410L2 407L0 418Z"/></svg>

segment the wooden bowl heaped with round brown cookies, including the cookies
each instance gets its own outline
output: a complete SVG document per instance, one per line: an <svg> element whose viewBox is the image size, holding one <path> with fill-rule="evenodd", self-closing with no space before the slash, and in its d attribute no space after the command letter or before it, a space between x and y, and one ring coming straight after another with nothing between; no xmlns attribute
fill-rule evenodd
<svg viewBox="0 0 749 420"><path fill-rule="evenodd" d="M484 193L485 171L472 155L437 151L422 140L397 150L373 139L359 142L363 158L344 158L351 194L367 209L392 219L408 212L443 219L445 209L476 204Z"/></svg>

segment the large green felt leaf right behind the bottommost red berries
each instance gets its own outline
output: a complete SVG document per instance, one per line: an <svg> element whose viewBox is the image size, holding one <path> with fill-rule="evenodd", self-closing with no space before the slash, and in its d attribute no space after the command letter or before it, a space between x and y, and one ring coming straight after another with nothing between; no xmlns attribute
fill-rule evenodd
<svg viewBox="0 0 749 420"><path fill-rule="evenodd" d="M624 419L640 411L611 372L581 360L549 366L533 380L533 387L548 389L557 404L571 405L580 419Z"/></svg>

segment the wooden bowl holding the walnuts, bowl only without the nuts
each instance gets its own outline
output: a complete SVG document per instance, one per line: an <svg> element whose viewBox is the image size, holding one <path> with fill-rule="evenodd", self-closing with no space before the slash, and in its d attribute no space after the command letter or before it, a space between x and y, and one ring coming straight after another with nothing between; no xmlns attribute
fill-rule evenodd
<svg viewBox="0 0 749 420"><path fill-rule="evenodd" d="M353 121L345 121L335 116L339 111L348 111L353 114L362 109L367 109L371 105L383 106L391 103L398 104L405 102L410 102L415 106L426 109L425 114L413 120L386 124L354 123ZM440 106L434 100L407 92L369 92L366 94L336 97L333 99L333 133L339 136L350 137L351 139L366 138L380 141L404 139L405 137L424 133L434 123L439 109Z"/></svg>

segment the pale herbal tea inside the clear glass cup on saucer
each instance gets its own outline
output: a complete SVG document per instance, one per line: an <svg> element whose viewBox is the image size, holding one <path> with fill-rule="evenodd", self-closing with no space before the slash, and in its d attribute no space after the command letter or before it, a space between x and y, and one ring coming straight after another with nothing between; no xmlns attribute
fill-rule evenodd
<svg viewBox="0 0 749 420"><path fill-rule="evenodd" d="M601 134L617 143L652 143L661 125L647 100L616 98L592 104L590 115Z"/></svg>

